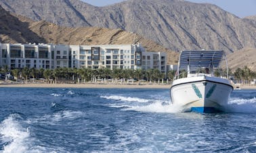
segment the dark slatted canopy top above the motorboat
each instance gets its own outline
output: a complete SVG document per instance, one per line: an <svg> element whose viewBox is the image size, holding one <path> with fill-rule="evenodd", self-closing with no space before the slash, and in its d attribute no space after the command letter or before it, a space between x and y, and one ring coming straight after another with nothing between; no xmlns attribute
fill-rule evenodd
<svg viewBox="0 0 256 153"><path fill-rule="evenodd" d="M219 67L224 51L182 51L179 67Z"/></svg>

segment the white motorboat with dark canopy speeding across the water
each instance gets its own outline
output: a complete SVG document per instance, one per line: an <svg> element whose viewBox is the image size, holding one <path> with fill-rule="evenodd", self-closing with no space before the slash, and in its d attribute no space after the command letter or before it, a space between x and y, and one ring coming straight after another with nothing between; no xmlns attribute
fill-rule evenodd
<svg viewBox="0 0 256 153"><path fill-rule="evenodd" d="M222 60L226 60L226 78L214 76ZM173 104L182 106L184 112L223 111L232 90L223 51L182 51L170 89Z"/></svg>

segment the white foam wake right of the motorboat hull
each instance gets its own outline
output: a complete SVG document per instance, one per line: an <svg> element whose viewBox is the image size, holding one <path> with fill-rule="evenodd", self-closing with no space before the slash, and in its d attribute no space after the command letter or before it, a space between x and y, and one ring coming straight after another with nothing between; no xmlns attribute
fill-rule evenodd
<svg viewBox="0 0 256 153"><path fill-rule="evenodd" d="M230 98L225 111L233 113L256 113L256 98Z"/></svg>

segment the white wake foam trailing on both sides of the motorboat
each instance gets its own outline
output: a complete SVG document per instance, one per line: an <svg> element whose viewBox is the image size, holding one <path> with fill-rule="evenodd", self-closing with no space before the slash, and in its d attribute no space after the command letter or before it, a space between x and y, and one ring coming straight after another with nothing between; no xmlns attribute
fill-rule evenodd
<svg viewBox="0 0 256 153"><path fill-rule="evenodd" d="M166 100L167 97L161 99L146 99L125 96L100 96L101 98L114 100L108 106L121 108L123 111L141 111L152 113L180 113L190 111L184 106L173 104ZM224 106L223 111L228 113L256 113L256 98L230 98L228 104Z"/></svg>

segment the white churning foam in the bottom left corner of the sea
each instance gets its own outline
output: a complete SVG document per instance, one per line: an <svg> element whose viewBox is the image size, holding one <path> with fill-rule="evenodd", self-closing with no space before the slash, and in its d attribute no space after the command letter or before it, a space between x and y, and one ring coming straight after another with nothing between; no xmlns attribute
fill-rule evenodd
<svg viewBox="0 0 256 153"><path fill-rule="evenodd" d="M42 152L45 148L38 148L33 145L33 138L30 137L29 127L22 127L16 120L20 118L17 114L12 114L4 119L0 124L0 135L3 146L3 152Z"/></svg>

